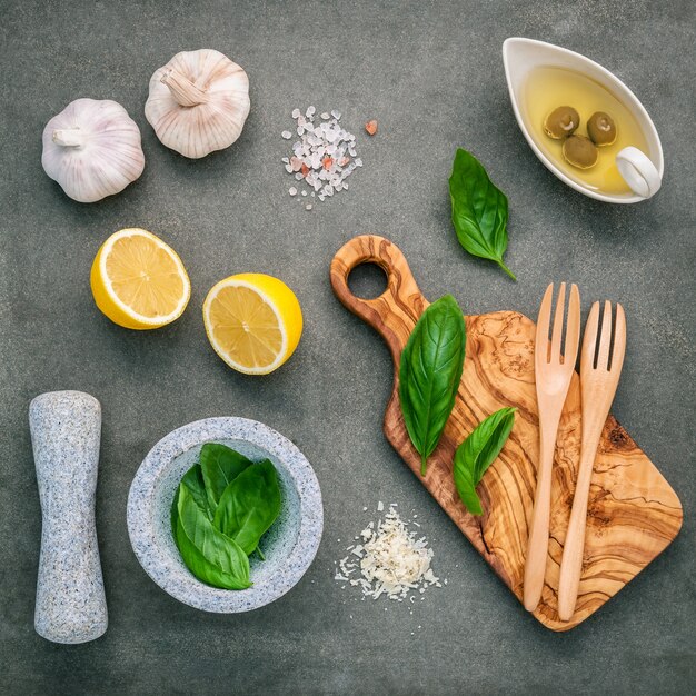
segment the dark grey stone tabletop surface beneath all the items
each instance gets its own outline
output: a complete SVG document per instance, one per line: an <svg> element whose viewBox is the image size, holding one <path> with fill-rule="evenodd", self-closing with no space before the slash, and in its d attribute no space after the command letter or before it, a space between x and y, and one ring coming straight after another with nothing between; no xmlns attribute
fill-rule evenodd
<svg viewBox="0 0 696 696"><path fill-rule="evenodd" d="M0 690L119 693L683 694L696 679L694 576L694 3L357 2L83 3L0 7ZM665 150L659 193L607 206L571 191L534 157L508 103L500 46L528 36L578 50L642 99ZM213 47L246 68L251 112L223 152L188 161L143 117L148 80L179 50ZM77 97L122 103L142 130L142 177L118 197L70 201L41 170L41 131ZM280 158L290 110L338 108L360 136L350 190L311 213L287 195ZM513 284L461 251L447 178L457 146L477 155L510 201ZM89 268L115 230L142 226L181 255L189 309L155 332L111 325ZM628 319L615 414L679 494L677 540L583 626L549 633L496 579L390 449L381 417L386 347L334 298L328 264L356 232L409 259L427 297L466 311L533 315L547 282L620 301ZM306 329L267 378L232 372L208 345L207 290L243 270L281 277ZM372 274L355 287L377 289ZM97 527L110 626L58 646L33 630L41 516L27 405L82 389L102 404ZM242 416L292 439L325 503L317 559L278 601L207 615L159 589L128 539L126 501L162 436L209 416ZM416 509L448 585L408 608L360 601L332 578L377 500ZM368 506L368 513L362 507ZM340 541L338 540L340 539ZM387 610L385 610L385 608Z"/></svg>

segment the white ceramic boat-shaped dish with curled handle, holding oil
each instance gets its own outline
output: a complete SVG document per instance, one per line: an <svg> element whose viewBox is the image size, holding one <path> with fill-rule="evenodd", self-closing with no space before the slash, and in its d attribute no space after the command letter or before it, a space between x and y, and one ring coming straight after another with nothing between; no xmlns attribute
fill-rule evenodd
<svg viewBox="0 0 696 696"><path fill-rule="evenodd" d="M553 171L561 181L576 191L585 193L585 196L609 203L635 203L657 192L665 170L663 146L659 141L659 136L645 107L615 74L594 60L580 56L580 53L575 53L574 51L554 46L553 43L523 38L505 40L503 43L503 62L505 64L505 76L507 78L510 101L513 102L513 110L515 111L517 123L535 155L547 169ZM521 91L529 72L539 67L557 67L580 72L616 95L616 97L626 105L638 121L638 126L643 130L648 145L648 152L643 155L636 148L624 148L624 150L617 155L617 163L619 163L618 160L622 158L619 170L628 186L634 189L634 192L616 195L601 193L600 191L584 186L581 182L566 176L538 148L525 121L519 105L523 100Z"/></svg>

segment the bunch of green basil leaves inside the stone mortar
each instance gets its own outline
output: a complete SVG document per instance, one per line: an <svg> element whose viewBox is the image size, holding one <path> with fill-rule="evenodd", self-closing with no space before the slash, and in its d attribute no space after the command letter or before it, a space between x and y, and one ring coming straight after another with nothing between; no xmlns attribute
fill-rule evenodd
<svg viewBox="0 0 696 696"><path fill-rule="evenodd" d="M274 465L225 445L207 443L181 479L171 506L171 527L183 563L203 583L246 589L249 555L261 558L259 540L280 514Z"/></svg>

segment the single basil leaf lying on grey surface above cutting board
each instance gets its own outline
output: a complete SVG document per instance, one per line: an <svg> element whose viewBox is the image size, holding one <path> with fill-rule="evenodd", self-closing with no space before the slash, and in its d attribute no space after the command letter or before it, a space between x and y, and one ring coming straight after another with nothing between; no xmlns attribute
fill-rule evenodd
<svg viewBox="0 0 696 696"><path fill-rule="evenodd" d="M507 197L488 178L483 165L457 148L449 177L451 221L466 251L495 261L513 280L503 261L507 249Z"/></svg>

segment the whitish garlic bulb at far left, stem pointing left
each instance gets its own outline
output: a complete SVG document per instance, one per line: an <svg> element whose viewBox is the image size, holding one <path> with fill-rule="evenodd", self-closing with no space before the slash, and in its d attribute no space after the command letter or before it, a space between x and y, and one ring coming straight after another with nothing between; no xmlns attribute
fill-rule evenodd
<svg viewBox="0 0 696 696"><path fill-rule="evenodd" d="M116 101L76 99L46 125L41 165L70 198L101 200L142 173L140 130Z"/></svg>

